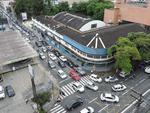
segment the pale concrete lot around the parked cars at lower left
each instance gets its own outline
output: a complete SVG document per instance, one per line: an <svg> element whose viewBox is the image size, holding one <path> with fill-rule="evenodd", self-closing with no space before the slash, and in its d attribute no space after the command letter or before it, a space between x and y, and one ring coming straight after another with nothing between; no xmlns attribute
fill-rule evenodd
<svg viewBox="0 0 150 113"><path fill-rule="evenodd" d="M42 81L46 82L49 80L46 76L43 76L44 73L39 66L34 66L34 69L36 84L41 84ZM4 87L12 85L16 95L11 98L6 96L5 99L0 100L0 113L33 113L30 103L26 104L25 102L26 96L32 94L28 68L6 73L3 76L4 80L0 84Z"/></svg>

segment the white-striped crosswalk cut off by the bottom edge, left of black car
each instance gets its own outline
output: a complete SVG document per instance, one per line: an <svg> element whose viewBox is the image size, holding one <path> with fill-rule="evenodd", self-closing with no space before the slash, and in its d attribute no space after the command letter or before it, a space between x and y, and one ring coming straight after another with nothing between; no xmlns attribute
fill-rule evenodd
<svg viewBox="0 0 150 113"><path fill-rule="evenodd" d="M49 113L67 113L67 111L62 105L56 103Z"/></svg>

